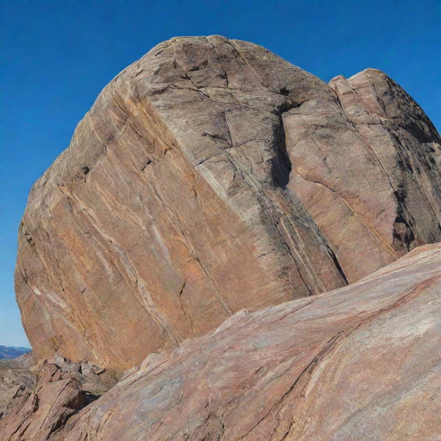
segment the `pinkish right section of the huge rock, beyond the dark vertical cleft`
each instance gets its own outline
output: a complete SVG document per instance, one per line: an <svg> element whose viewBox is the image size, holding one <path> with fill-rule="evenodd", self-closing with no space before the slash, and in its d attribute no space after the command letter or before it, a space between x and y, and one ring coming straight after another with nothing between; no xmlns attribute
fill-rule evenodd
<svg viewBox="0 0 441 441"><path fill-rule="evenodd" d="M288 187L353 282L440 240L440 137L379 70L329 84L337 102L311 100L283 114Z"/></svg>

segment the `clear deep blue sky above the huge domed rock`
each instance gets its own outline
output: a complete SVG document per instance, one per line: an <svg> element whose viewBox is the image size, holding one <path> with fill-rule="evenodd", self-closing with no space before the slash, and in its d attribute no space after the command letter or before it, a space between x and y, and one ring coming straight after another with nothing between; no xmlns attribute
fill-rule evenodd
<svg viewBox="0 0 441 441"><path fill-rule="evenodd" d="M103 86L156 43L223 34L328 81L384 70L441 127L441 0L0 0L0 345L27 345L17 227L34 181Z"/></svg>

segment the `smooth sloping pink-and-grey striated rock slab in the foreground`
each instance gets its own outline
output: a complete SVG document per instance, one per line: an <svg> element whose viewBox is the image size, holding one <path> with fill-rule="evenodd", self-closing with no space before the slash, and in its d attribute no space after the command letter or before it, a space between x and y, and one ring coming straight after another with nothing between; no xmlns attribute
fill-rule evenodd
<svg viewBox="0 0 441 441"><path fill-rule="evenodd" d="M440 294L438 244L349 287L240 311L147 357L54 439L436 440Z"/></svg>

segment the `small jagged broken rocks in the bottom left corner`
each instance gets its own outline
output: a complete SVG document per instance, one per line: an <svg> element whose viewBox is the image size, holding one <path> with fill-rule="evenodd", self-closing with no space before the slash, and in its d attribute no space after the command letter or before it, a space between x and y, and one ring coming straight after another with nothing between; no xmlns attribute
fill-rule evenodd
<svg viewBox="0 0 441 441"><path fill-rule="evenodd" d="M5 367L7 369L7 367ZM49 440L65 422L110 389L116 377L90 362L61 357L0 369L0 439ZM14 391L14 393L11 393Z"/></svg>

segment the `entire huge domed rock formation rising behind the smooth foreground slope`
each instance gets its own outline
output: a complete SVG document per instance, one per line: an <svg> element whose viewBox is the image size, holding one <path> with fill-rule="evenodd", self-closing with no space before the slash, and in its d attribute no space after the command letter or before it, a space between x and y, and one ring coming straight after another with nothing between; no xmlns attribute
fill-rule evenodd
<svg viewBox="0 0 441 441"><path fill-rule="evenodd" d="M327 85L252 43L161 43L32 188L16 291L37 358L125 369L440 241L440 143L382 72Z"/></svg>

